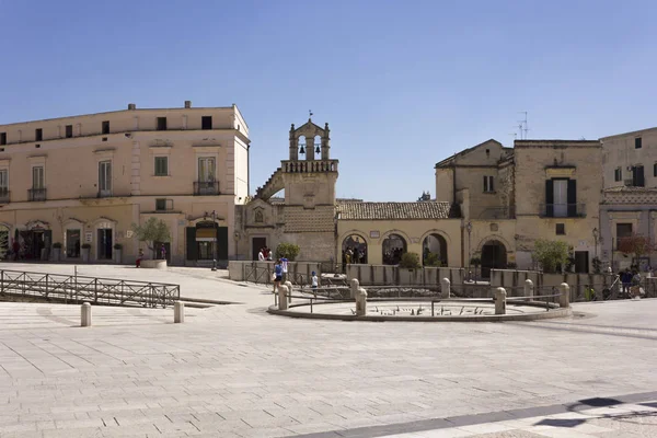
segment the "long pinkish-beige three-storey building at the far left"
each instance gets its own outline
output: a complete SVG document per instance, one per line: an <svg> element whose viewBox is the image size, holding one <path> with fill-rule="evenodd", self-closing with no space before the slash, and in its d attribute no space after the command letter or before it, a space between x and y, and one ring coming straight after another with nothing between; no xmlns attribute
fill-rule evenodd
<svg viewBox="0 0 657 438"><path fill-rule="evenodd" d="M132 223L157 217L171 230L172 263L195 265L215 253L226 262L237 254L234 206L249 195L249 143L235 105L130 104L0 125L0 223L27 260L61 243L66 261L79 260L85 244L91 261L112 261L119 244L130 263L145 249Z"/></svg>

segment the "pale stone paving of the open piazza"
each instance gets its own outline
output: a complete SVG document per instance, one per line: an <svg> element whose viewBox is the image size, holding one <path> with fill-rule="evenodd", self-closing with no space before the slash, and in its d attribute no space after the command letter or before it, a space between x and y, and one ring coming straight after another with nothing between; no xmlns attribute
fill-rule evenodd
<svg viewBox="0 0 657 438"><path fill-rule="evenodd" d="M0 303L3 438L657 436L657 300L538 322L315 321L267 314L272 295L226 272L79 274L240 304L184 324L94 307L82 328L79 306Z"/></svg>

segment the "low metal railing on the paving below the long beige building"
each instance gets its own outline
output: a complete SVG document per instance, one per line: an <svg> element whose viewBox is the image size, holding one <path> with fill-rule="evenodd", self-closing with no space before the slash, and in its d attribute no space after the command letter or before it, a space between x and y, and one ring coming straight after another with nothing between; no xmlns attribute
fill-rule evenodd
<svg viewBox="0 0 657 438"><path fill-rule="evenodd" d="M180 300L180 285L0 270L0 296L32 297L79 303L165 308Z"/></svg>

